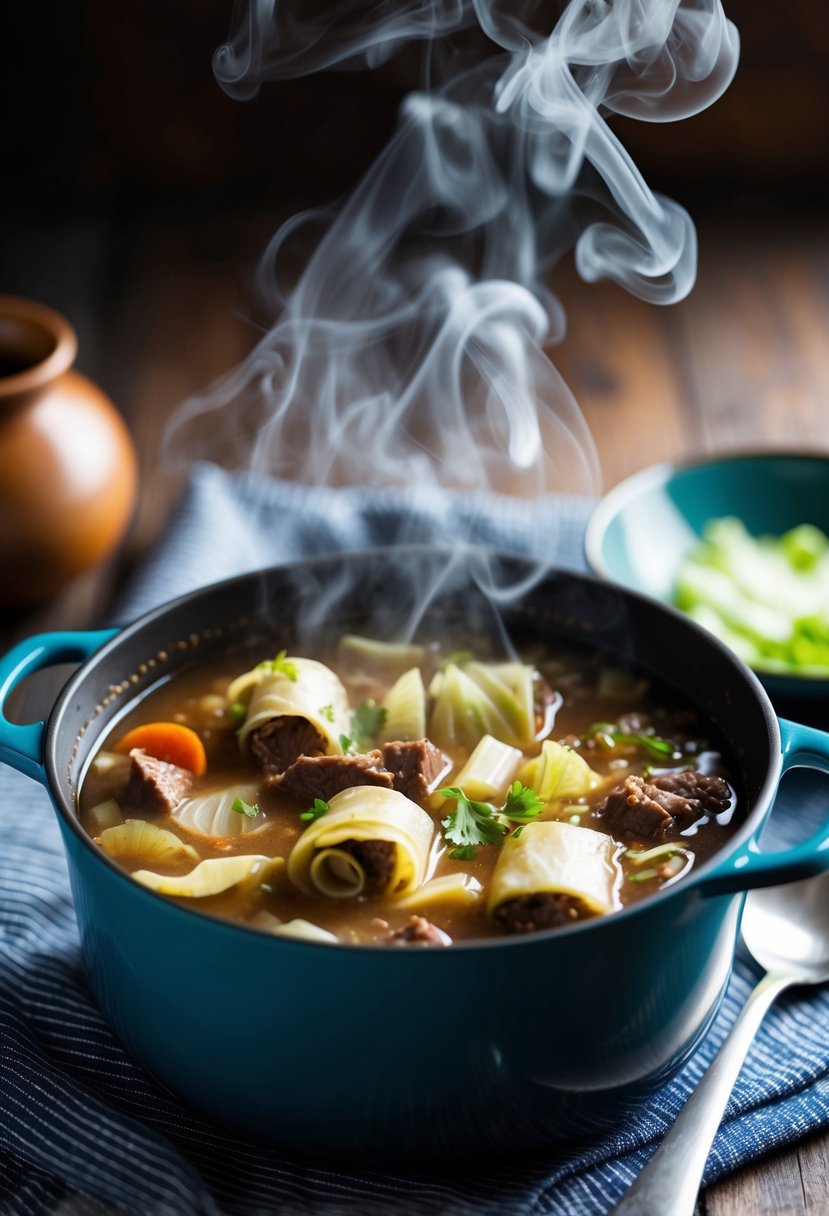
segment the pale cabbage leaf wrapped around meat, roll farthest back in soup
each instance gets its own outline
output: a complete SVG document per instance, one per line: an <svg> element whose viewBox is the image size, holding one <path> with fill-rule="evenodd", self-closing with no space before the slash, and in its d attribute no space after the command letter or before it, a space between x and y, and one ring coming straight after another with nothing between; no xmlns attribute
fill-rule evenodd
<svg viewBox="0 0 829 1216"><path fill-rule="evenodd" d="M304 717L322 737L326 755L343 754L340 737L350 733L351 715L345 688L325 663L301 658L261 663L230 685L227 700L247 704L238 732L242 750L250 734L275 717Z"/></svg>

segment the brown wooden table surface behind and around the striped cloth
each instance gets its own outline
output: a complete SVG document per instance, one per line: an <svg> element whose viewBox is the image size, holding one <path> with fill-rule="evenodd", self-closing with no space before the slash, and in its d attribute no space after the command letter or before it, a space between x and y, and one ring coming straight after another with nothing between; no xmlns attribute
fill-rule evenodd
<svg viewBox="0 0 829 1216"><path fill-rule="evenodd" d="M78 366L123 410L141 497L117 558L52 604L0 620L0 641L100 620L113 589L164 527L180 477L159 466L164 421L232 367L256 338L250 283L273 226L266 215L141 224L19 226L0 252L0 283L62 310ZM654 461L801 447L829 454L829 226L777 219L739 231L700 224L698 285L658 308L613 285L557 275L569 317L553 359L580 402L604 488ZM829 1136L709 1188L699 1216L829 1212ZM670 1216L670 1214L666 1214Z"/></svg>

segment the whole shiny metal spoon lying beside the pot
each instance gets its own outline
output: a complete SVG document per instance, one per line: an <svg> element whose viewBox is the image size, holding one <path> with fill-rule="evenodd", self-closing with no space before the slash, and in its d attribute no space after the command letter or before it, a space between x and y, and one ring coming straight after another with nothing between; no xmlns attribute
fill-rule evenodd
<svg viewBox="0 0 829 1216"><path fill-rule="evenodd" d="M743 940L767 974L611 1216L693 1216L709 1150L760 1023L784 989L829 980L829 872L751 891L743 912Z"/></svg>

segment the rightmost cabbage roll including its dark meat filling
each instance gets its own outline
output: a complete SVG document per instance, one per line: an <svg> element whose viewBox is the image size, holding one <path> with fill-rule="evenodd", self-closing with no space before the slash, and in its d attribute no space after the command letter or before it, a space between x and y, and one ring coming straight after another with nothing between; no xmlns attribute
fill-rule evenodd
<svg viewBox="0 0 829 1216"><path fill-rule="evenodd" d="M604 832L560 823L528 823L501 849L487 900L506 933L552 929L621 905L619 845Z"/></svg>

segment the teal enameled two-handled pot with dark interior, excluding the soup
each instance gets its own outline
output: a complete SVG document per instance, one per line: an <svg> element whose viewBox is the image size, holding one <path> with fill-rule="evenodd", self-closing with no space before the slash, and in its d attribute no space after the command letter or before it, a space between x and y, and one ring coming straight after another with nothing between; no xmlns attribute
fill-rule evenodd
<svg viewBox="0 0 829 1216"><path fill-rule="evenodd" d="M706 865L615 916L446 950L222 923L140 886L80 829L77 794L97 741L158 681L242 641L299 649L321 631L413 627L458 641L506 630L552 651L587 641L638 663L727 741L745 820ZM52 798L101 1009L170 1090L287 1150L457 1159L624 1120L714 1018L743 893L829 868L829 820L797 848L757 845L782 773L829 771L829 736L778 721L756 677L678 613L524 558L376 550L244 575L120 631L21 643L0 662L0 706L26 676L66 662L80 666L47 722L0 714L0 758Z"/></svg>

